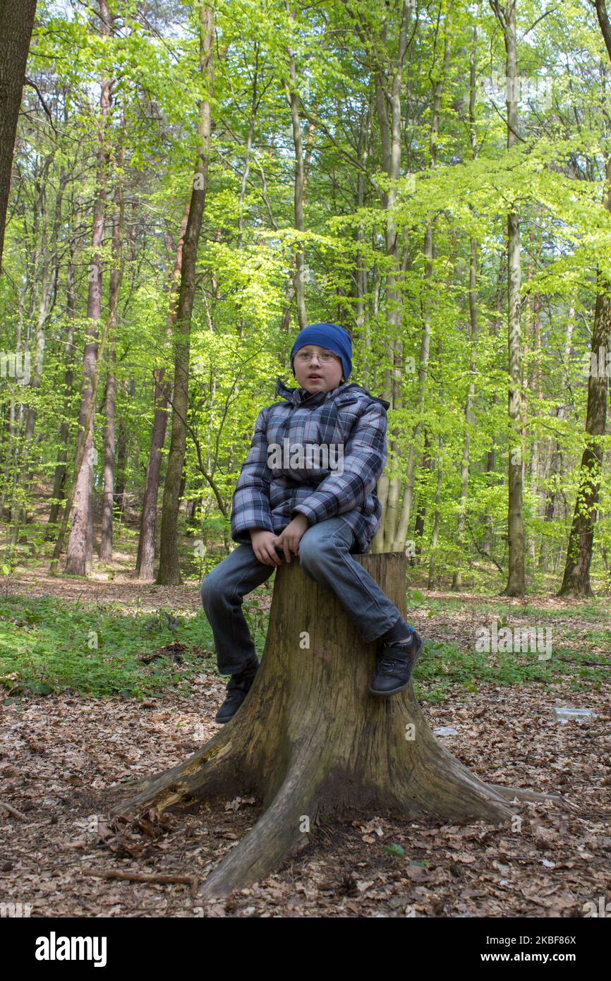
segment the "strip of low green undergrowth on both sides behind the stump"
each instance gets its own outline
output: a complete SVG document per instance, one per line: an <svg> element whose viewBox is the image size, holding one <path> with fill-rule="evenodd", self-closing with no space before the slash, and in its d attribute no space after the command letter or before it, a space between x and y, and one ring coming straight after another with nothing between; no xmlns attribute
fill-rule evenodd
<svg viewBox="0 0 611 981"><path fill-rule="evenodd" d="M464 609L458 599L427 600L418 591L408 596L408 609L423 605L431 616L450 615ZM486 606L484 602L471 610ZM535 652L479 652L458 645L425 641L414 670L417 697L427 701L466 692L480 684L544 686L569 682L579 690L599 688L611 678L611 632L604 603L584 603L571 610L576 619L589 616L586 630L563 624L563 645L555 639L551 657L539 660ZM244 614L257 652L263 652L269 613L261 610L256 596L244 601ZM504 604L494 603L501 615ZM515 606L507 606L515 616ZM520 610L522 613L523 611ZM524 609L537 620L566 620L566 610ZM550 614L546 616L545 614ZM593 629L594 619L600 621ZM433 626L433 625L432 625ZM570 646L578 640L580 643ZM179 648L173 645L180 645ZM596 651L595 647L602 648ZM192 678L204 670L216 671L212 632L203 610L192 614L172 610L130 612L119 603L66 602L55 597L28 599L0 597L0 685L7 696L48 695L72 690L92 697L155 697L167 691L187 694ZM146 662L151 655L156 656ZM597 662L597 663L587 663Z"/></svg>

